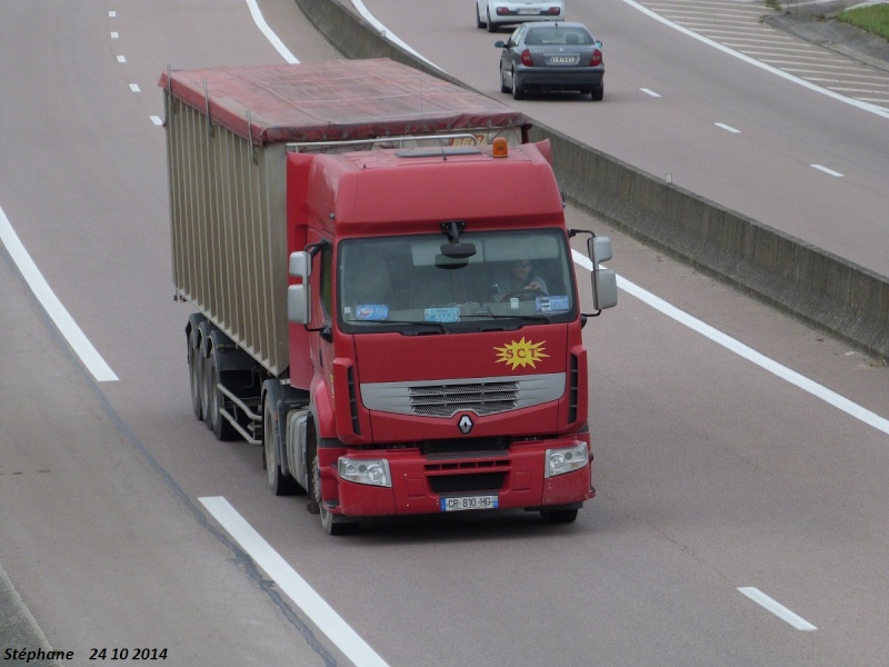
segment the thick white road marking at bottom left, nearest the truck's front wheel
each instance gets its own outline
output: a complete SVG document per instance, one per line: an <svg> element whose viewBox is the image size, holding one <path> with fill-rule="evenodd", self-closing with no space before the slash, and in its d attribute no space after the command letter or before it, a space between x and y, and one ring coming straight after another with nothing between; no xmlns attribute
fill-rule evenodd
<svg viewBox="0 0 889 667"><path fill-rule="evenodd" d="M388 664L318 595L306 580L262 539L238 510L221 496L198 498L241 548L278 587L360 667L388 667Z"/></svg>

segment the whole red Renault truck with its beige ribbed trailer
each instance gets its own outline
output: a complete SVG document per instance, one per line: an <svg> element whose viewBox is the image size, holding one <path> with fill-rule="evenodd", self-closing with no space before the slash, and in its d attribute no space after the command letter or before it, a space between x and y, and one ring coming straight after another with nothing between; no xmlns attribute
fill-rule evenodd
<svg viewBox="0 0 889 667"><path fill-rule="evenodd" d="M191 402L262 446L274 495L362 518L595 496L588 357L607 237L568 230L528 119L387 59L168 71L176 298Z"/></svg>

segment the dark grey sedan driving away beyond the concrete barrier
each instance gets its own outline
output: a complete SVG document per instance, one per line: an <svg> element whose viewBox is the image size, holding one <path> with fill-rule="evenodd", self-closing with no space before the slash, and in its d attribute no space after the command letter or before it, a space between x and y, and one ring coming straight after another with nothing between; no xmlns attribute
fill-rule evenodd
<svg viewBox="0 0 889 667"><path fill-rule="evenodd" d="M526 23L500 51L500 91L520 100L526 91L577 90L605 96L602 42L583 23Z"/></svg>

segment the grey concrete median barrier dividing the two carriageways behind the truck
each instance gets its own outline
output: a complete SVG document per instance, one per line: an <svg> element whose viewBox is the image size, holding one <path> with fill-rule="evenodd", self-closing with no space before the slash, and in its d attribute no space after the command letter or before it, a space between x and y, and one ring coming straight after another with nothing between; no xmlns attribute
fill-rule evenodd
<svg viewBox="0 0 889 667"><path fill-rule="evenodd" d="M296 0L347 58L391 58L465 86L388 41L339 0ZM607 102L605 102L607 103ZM889 278L646 173L557 130L566 199L617 229L818 330L889 360ZM617 258L620 265L620 258Z"/></svg>

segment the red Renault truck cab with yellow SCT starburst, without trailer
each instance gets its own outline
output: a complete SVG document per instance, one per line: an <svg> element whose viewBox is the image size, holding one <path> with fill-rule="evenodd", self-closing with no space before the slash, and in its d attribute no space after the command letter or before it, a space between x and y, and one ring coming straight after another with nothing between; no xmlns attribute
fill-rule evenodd
<svg viewBox="0 0 889 667"><path fill-rule="evenodd" d="M572 520L595 495L585 316L547 147L290 167L307 193L289 207L291 384L318 434L292 449L317 457L322 520L507 507Z"/></svg>

